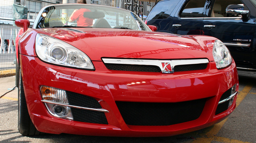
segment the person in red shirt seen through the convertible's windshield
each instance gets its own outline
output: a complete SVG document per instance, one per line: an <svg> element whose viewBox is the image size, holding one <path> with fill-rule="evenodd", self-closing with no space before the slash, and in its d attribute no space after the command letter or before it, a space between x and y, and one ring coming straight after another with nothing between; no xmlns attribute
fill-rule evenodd
<svg viewBox="0 0 256 143"><path fill-rule="evenodd" d="M78 4L86 4L86 0L77 0ZM86 8L75 9L74 12L69 17L69 22L73 22L76 20L77 26L92 26L93 19L85 18L84 12L91 11Z"/></svg>

